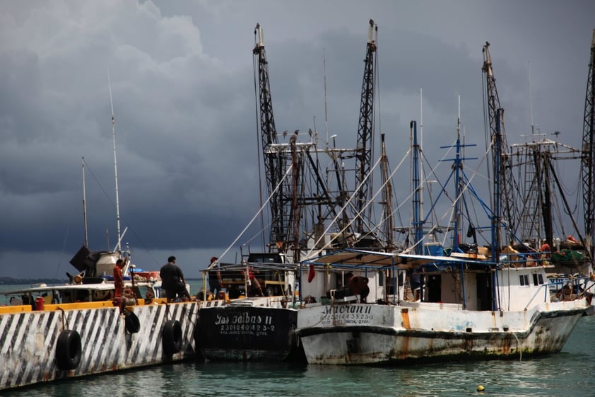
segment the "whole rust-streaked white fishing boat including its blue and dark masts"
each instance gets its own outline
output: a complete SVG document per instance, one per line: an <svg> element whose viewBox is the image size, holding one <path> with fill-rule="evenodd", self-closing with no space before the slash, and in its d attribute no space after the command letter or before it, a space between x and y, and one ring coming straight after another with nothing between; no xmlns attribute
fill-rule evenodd
<svg viewBox="0 0 595 397"><path fill-rule="evenodd" d="M512 168L504 153L502 108L495 91L489 54L483 48L488 84L491 171L494 209L483 208L490 226L490 244L478 246L482 228L470 218L461 243L459 205L464 195L477 197L471 179L462 170L457 127L452 203L452 246L430 241L420 217L416 123L413 136L413 241L400 253L337 251L303 261L319 274L326 297L298 311L300 343L309 364L400 364L449 359L524 358L562 350L588 307L582 286L587 280L558 286L552 296L548 270L553 265L535 252L508 251L502 236L510 231L507 218L514 203L509 190ZM461 171L463 172L463 171ZM444 192L444 187L442 191ZM508 206L508 207L507 207ZM509 236L512 238L513 236ZM348 273L348 288L337 280ZM302 284L302 287L307 284Z"/></svg>

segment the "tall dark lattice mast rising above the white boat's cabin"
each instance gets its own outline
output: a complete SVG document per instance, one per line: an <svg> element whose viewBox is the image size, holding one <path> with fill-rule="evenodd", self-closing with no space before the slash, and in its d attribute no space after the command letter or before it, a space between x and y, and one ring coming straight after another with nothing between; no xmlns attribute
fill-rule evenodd
<svg viewBox="0 0 595 397"><path fill-rule="evenodd" d="M507 230L509 231L509 240L512 241L512 234L517 226L517 216L514 203L514 178L512 177L512 162L506 155L506 133L504 128L504 109L500 105L498 91L496 89L496 79L492 69L492 58L490 57L490 43L486 42L483 46L483 73L485 74L486 98L488 108L488 118L490 125L490 142L492 144L492 172L494 179L493 192L493 227L494 246L493 249L500 250L502 240L500 236L500 226L502 225L502 216L506 219ZM493 256L493 258L497 258Z"/></svg>

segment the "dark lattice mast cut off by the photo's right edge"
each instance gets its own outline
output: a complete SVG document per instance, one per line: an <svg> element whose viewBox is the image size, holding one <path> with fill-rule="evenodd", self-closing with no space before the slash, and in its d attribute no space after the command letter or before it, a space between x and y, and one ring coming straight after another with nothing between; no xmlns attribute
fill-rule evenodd
<svg viewBox="0 0 595 397"><path fill-rule="evenodd" d="M587 77L587 93L584 98L582 135L582 185L584 205L584 233L587 252L594 258L593 232L595 224L595 29L591 41L591 59Z"/></svg>

